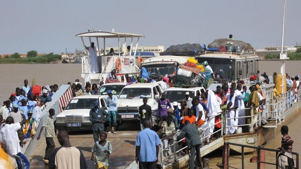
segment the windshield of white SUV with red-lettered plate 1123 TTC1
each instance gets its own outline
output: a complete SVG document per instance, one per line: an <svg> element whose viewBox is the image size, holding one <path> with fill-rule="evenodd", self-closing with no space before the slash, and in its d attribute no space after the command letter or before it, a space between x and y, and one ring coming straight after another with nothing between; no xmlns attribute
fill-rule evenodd
<svg viewBox="0 0 301 169"><path fill-rule="evenodd" d="M139 99L143 97L152 98L150 88L124 88L119 95L119 99Z"/></svg>

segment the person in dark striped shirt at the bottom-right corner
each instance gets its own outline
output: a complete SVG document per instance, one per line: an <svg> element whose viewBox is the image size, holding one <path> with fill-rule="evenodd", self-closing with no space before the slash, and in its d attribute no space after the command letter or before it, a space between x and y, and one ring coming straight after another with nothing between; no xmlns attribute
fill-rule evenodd
<svg viewBox="0 0 301 169"><path fill-rule="evenodd" d="M280 149L280 154L278 155L278 165L281 169L291 169L294 167L294 160L291 154L294 141L288 135L287 126L284 125L281 127L281 134L283 137L281 138L281 147L278 147L278 149Z"/></svg>

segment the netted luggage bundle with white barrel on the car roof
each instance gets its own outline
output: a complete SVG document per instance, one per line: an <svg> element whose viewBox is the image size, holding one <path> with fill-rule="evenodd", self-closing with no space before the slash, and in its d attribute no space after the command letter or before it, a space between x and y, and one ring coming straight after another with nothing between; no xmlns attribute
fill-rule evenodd
<svg viewBox="0 0 301 169"><path fill-rule="evenodd" d="M197 69L180 65L173 77L173 84L177 88L189 88L189 87L209 87L213 83L211 74L198 71Z"/></svg>

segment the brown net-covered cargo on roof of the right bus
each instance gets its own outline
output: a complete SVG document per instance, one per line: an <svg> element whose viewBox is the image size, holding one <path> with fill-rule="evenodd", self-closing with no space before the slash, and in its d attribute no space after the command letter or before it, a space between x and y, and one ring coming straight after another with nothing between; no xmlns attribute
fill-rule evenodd
<svg viewBox="0 0 301 169"><path fill-rule="evenodd" d="M233 42L233 44L227 44L226 42ZM212 43L208 44L208 48L219 48L220 46L227 46L227 45L232 45L232 46L241 46L245 50L253 50L253 46L251 44L246 43L244 41L236 41L236 40L230 40L227 38L221 38L221 39L215 39Z"/></svg>

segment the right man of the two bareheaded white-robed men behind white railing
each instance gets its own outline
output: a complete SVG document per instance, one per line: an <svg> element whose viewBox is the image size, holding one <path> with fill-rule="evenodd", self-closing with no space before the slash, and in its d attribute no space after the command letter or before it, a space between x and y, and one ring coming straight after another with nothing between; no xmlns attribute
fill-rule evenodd
<svg viewBox="0 0 301 169"><path fill-rule="evenodd" d="M244 109L244 97L246 96L246 90L243 90L243 94L241 94L241 84L238 83L236 86L236 90L235 90L235 95L238 98L238 109ZM246 116L245 110L237 110L238 113L238 117L244 117ZM246 118L238 118L237 120L237 124L242 125L242 124L246 124Z"/></svg>

